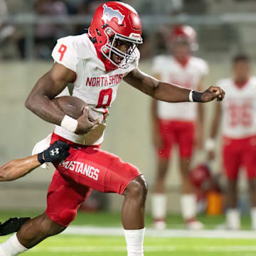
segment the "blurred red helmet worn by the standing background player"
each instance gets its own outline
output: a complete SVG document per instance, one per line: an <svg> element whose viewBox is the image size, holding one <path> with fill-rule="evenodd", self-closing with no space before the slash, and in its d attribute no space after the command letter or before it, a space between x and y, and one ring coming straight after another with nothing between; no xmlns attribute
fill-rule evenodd
<svg viewBox="0 0 256 256"><path fill-rule="evenodd" d="M179 41L188 42L191 50L198 50L198 43L196 41L196 31L187 25L177 25L172 28L171 35L169 36L171 43Z"/></svg>

